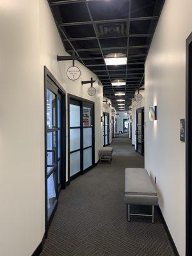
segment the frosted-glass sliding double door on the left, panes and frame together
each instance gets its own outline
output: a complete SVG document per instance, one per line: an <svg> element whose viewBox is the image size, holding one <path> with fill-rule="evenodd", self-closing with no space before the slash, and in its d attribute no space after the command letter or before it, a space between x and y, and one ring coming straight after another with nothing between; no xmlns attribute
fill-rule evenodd
<svg viewBox="0 0 192 256"><path fill-rule="evenodd" d="M68 95L68 182L95 164L94 102Z"/></svg>

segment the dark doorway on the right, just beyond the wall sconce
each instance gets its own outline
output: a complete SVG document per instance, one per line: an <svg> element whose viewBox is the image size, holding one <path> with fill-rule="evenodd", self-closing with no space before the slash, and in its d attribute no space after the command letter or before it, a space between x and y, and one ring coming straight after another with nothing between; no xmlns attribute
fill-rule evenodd
<svg viewBox="0 0 192 256"><path fill-rule="evenodd" d="M145 154L145 124L144 108L136 109L136 151Z"/></svg>

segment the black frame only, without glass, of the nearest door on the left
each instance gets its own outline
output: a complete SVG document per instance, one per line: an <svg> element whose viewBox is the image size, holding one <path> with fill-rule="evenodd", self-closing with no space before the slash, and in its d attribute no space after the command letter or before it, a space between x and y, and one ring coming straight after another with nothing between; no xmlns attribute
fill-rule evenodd
<svg viewBox="0 0 192 256"><path fill-rule="evenodd" d="M61 186L58 188L56 195L57 198L60 194L61 189L66 188L66 92L58 83L58 81L52 76L51 72L47 67L44 66L44 131L45 131L45 237L47 237L47 232L49 230L49 225L51 224L52 218L54 216L54 212L56 211L56 208L58 206L58 200L56 202L56 205L54 207L54 210L51 213L51 216L48 220L48 214L47 214L47 88L49 88L49 85L47 84L47 79L51 81L52 86L54 87L55 93L59 93L61 95L61 170L60 172L60 182ZM57 140L57 139L56 139Z"/></svg>

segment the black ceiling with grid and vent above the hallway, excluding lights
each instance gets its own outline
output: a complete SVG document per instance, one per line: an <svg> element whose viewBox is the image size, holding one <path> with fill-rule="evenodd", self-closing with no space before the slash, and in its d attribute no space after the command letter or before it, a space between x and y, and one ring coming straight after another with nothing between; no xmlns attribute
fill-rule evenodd
<svg viewBox="0 0 192 256"><path fill-rule="evenodd" d="M164 0L49 0L65 50L99 77L104 96L118 110L125 109L134 92L144 84L144 64ZM127 65L106 66L107 54L127 56ZM112 86L123 79L125 86ZM125 96L116 96L122 92Z"/></svg>

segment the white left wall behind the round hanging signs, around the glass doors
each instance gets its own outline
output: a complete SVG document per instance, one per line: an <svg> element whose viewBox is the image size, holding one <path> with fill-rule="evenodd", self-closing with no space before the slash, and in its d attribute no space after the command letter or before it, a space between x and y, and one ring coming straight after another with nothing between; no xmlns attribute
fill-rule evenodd
<svg viewBox="0 0 192 256"><path fill-rule="evenodd" d="M102 147L102 86L95 82L97 96L88 97L81 79L99 79L80 63L81 79L68 81L70 63L56 60L66 53L47 0L1 0L0 31L1 254L30 256L45 230L44 65L67 93L97 101L95 161Z"/></svg>

